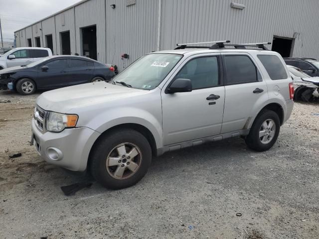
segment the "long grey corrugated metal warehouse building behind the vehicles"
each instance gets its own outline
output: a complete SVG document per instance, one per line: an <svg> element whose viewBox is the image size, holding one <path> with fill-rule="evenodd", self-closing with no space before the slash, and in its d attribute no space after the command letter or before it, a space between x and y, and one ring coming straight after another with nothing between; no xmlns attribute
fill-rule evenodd
<svg viewBox="0 0 319 239"><path fill-rule="evenodd" d="M213 40L272 42L284 57L319 58L318 9L319 0L82 0L14 35L17 47L77 53L119 70L176 43Z"/></svg>

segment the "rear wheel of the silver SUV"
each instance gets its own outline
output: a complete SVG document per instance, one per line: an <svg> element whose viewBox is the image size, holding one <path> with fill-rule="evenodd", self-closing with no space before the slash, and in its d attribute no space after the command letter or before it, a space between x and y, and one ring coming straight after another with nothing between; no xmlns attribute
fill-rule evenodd
<svg viewBox="0 0 319 239"><path fill-rule="evenodd" d="M245 142L255 151L266 151L277 141L279 131L279 116L274 111L264 110L255 119ZM263 136L260 137L260 135Z"/></svg>

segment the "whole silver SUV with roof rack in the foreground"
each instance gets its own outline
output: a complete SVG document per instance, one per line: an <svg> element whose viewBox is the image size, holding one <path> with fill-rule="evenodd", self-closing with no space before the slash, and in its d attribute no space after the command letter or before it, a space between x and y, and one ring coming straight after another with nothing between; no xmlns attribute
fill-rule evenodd
<svg viewBox="0 0 319 239"><path fill-rule="evenodd" d="M293 109L292 78L265 43L225 42L179 44L141 57L112 84L43 93L32 143L45 161L88 170L112 189L136 184L167 151L235 136L270 149Z"/></svg>

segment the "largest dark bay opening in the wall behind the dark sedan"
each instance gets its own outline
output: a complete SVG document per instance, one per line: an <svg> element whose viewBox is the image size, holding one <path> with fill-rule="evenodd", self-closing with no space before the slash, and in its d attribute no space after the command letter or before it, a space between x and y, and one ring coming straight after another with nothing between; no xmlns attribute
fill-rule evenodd
<svg viewBox="0 0 319 239"><path fill-rule="evenodd" d="M82 55L97 60L96 25L82 28Z"/></svg>

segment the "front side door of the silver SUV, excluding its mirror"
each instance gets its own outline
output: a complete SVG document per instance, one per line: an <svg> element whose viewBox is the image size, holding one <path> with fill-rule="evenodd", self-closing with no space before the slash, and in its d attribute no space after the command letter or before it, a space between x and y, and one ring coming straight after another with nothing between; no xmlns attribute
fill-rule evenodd
<svg viewBox="0 0 319 239"><path fill-rule="evenodd" d="M196 55L177 69L178 73L161 90L164 145L220 134L225 87L220 54ZM193 90L165 93L175 79L186 78ZM206 99L215 95L218 99Z"/></svg>

